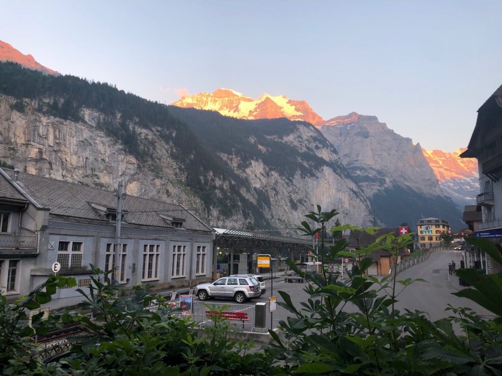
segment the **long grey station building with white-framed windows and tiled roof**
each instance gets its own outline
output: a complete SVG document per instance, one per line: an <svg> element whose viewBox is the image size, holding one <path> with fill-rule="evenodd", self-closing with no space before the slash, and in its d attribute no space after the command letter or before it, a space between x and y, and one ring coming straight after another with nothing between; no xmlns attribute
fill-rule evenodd
<svg viewBox="0 0 502 376"><path fill-rule="evenodd" d="M117 242L116 202L111 191L0 169L2 293L12 299L26 295L47 279L56 261L58 274L75 276L76 288L89 285L89 264L115 269L113 278L125 287L150 283L155 291L214 278L214 233L194 214L126 196ZM50 308L78 303L76 288L58 290Z"/></svg>

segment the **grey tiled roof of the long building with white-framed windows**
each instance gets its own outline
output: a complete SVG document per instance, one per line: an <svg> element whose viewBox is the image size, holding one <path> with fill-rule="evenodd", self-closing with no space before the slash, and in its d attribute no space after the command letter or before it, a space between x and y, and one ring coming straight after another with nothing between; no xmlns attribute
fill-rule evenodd
<svg viewBox="0 0 502 376"><path fill-rule="evenodd" d="M11 178L14 177L14 171L6 172ZM24 172L19 173L17 183L40 206L50 209L52 215L105 220L103 212L95 209L95 206L116 208L117 198L112 191ZM170 227L171 224L160 217L162 215L185 220L183 228L187 230L211 231L189 211L176 204L127 195L122 210L124 221L130 224Z"/></svg>

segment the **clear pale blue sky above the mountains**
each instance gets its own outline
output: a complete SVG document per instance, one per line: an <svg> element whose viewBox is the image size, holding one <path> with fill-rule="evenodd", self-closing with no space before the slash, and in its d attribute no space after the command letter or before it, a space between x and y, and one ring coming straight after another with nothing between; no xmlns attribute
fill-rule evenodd
<svg viewBox="0 0 502 376"><path fill-rule="evenodd" d="M375 115L466 147L502 84L502 1L0 0L0 40L62 74L172 103L228 88Z"/></svg>

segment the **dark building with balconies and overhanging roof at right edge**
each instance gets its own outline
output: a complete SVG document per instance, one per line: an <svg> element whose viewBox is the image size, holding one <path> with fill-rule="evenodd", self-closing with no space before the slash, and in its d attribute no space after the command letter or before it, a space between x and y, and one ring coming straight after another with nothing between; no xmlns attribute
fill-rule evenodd
<svg viewBox="0 0 502 376"><path fill-rule="evenodd" d="M475 237L490 239L502 252L502 86L478 109L474 131L462 158L477 158L481 222ZM502 272L502 265L480 253L479 265L487 273ZM483 264L485 263L485 264Z"/></svg>

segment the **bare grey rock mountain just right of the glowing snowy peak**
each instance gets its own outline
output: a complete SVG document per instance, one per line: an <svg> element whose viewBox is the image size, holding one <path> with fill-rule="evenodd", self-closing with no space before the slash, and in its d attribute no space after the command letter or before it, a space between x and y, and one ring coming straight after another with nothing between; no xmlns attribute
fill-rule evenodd
<svg viewBox="0 0 502 376"><path fill-rule="evenodd" d="M413 225L426 217L448 217L444 219L450 224L459 225L460 213L444 197L419 144L375 116L354 112L326 121L321 132L336 147L385 225Z"/></svg>

